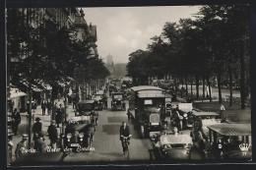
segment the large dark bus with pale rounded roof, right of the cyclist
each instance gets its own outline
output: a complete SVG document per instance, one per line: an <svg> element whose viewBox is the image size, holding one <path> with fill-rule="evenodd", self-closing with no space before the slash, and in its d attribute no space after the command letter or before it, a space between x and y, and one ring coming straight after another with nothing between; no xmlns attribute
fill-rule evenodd
<svg viewBox="0 0 256 170"><path fill-rule="evenodd" d="M166 124L165 93L157 86L133 86L129 97L134 128L141 131L142 137L148 137L152 131L160 131Z"/></svg>

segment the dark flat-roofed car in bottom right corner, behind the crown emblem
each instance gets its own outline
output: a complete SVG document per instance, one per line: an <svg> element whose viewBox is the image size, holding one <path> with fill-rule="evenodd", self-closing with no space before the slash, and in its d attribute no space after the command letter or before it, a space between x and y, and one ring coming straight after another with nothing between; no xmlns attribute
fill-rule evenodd
<svg viewBox="0 0 256 170"><path fill-rule="evenodd" d="M208 126L209 140L205 142L207 159L251 160L251 124L227 124Z"/></svg>

